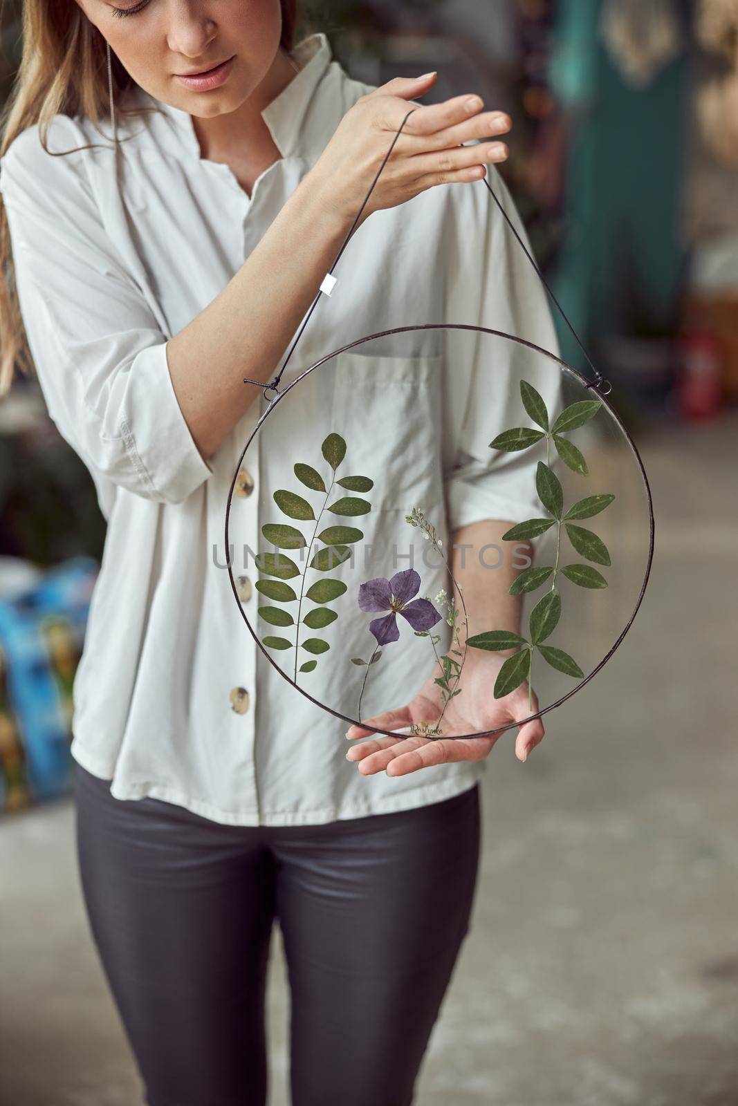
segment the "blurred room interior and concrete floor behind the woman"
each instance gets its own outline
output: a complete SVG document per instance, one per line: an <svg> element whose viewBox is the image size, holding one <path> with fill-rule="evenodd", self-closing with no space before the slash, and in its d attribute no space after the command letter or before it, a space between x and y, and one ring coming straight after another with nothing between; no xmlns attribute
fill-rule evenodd
<svg viewBox="0 0 738 1106"><path fill-rule="evenodd" d="M324 31L360 80L436 69L427 100L476 91L510 113L502 174L612 384L656 515L622 648L547 716L526 765L512 734L491 754L472 929L417 1100L736 1106L738 0L303 10L299 38ZM19 15L6 2L2 96ZM564 326L560 337L585 371ZM0 404L0 1100L22 1106L141 1100L83 916L67 791L103 541L90 476L20 377Z"/></svg>

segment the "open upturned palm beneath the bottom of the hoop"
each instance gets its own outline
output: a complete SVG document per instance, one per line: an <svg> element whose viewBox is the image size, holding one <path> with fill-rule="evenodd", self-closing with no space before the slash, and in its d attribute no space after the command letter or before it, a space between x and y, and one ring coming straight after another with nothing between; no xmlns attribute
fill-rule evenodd
<svg viewBox="0 0 738 1106"><path fill-rule="evenodd" d="M498 727L509 729L538 710L534 691L531 692L533 709L530 710L528 707L527 682L521 684L503 699L496 699L492 688L506 658L497 654L493 656L484 654L477 657L476 651L470 649L466 655L459 685L461 693L450 700L440 723L444 734L479 733L485 730L496 730ZM428 677L415 698L406 706L396 710L385 710L366 719L366 722L383 730L402 729L422 722L435 727L443 710L440 689L434 682L439 675L440 667ZM346 738L353 740L366 737L371 732L364 727L351 726ZM543 739L543 733L540 718L534 718L520 727L516 739L516 755L519 760L527 759L531 749ZM501 733L496 733L487 738L445 740L444 737L424 738L419 734L407 738L378 734L372 741L353 745L346 753L346 759L358 761L358 771L363 775L372 775L385 769L387 775L405 775L407 772L416 772L430 764L482 760L489 755L492 745L500 737Z"/></svg>

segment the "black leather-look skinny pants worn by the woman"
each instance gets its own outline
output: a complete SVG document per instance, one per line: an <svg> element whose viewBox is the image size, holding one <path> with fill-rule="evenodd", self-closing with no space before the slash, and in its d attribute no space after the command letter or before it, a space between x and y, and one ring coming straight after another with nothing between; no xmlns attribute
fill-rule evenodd
<svg viewBox="0 0 738 1106"><path fill-rule="evenodd" d="M263 1106L279 922L293 1106L407 1106L469 927L479 787L310 826L118 800L75 766L92 931L149 1106Z"/></svg>

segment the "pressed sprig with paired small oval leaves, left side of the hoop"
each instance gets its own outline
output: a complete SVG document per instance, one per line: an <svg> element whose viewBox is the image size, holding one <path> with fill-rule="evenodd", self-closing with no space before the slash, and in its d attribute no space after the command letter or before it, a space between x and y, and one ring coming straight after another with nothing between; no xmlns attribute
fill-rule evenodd
<svg viewBox="0 0 738 1106"><path fill-rule="evenodd" d="M301 554L301 560L304 563L312 553L311 560L301 568L291 557L281 552L259 553L256 557L257 568L261 573L261 578L257 581L257 591L270 599L272 604L297 603L294 617L284 609L284 606L267 604L258 609L259 617L271 626L294 627L294 640L288 637L267 635L262 637L261 641L268 649L284 651L294 649L295 684L298 671L313 671L318 665L316 657L331 648L325 638L314 633L301 639L301 627L315 632L335 622L339 617L337 612L332 609L329 604L346 591L346 585L342 580L325 575L322 578L316 578L306 587L308 570L312 568L314 572L324 574L343 564L351 556L351 545L364 536L363 531L356 526L341 523L326 525L321 530L324 521L330 521L324 519L325 513L330 512L340 519L346 519L358 518L372 510L368 500L361 495L339 495L332 503L329 503L336 484L350 492L366 493L374 487L374 481L363 476L346 476L341 479L336 477L336 472L346 456L346 442L341 435L329 434L322 442L321 452L331 470L328 486L321 473L312 466L300 462L293 466L294 474L300 483L313 493L313 498L321 495L321 502L313 508L313 504L304 495L283 488L273 493L277 507L289 519L314 523L312 534L305 538L298 526L281 522L268 522L261 528L261 533L276 550L306 550L304 554ZM318 543L322 543L322 545L316 547L313 553L313 546L316 546ZM298 578L299 591L295 591ZM294 587L288 583L289 580L295 581ZM308 602L315 605L303 614L303 606ZM312 655L303 664L300 664L301 649Z"/></svg>

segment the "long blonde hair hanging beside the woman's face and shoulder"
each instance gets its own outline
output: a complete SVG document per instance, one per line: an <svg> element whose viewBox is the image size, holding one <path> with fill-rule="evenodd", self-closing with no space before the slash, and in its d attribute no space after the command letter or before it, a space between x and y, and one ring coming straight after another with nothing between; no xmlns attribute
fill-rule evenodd
<svg viewBox="0 0 738 1106"><path fill-rule="evenodd" d="M294 45L297 2L280 0L282 36L280 45ZM83 115L94 124L110 117L107 58L103 34L94 27L75 0L23 0L23 53L13 87L0 116L2 138L0 157L28 127L39 126L39 140L53 157L74 150L54 152L46 145L49 125L54 115ZM113 100L119 115L141 115L156 108L122 106L133 79L111 53ZM15 366L27 376L33 374L33 361L25 337L15 291L8 217L0 196L0 399L8 394Z"/></svg>

